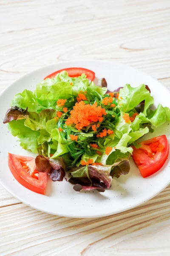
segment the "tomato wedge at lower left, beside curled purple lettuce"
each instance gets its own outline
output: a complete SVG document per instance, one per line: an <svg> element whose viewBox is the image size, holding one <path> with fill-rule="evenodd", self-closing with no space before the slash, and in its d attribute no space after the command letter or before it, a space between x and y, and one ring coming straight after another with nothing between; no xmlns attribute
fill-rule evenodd
<svg viewBox="0 0 170 256"><path fill-rule="evenodd" d="M37 172L35 158L8 153L8 166L21 185L36 193L45 194L47 174Z"/></svg>

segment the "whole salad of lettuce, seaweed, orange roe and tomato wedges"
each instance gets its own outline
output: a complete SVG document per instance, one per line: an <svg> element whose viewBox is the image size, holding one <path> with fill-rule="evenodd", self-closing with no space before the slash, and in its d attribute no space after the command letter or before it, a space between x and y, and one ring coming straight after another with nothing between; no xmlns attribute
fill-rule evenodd
<svg viewBox="0 0 170 256"><path fill-rule="evenodd" d="M144 134L170 121L170 109L154 103L147 85L126 84L114 91L103 78L84 68L58 70L34 92L17 93L4 123L20 146L36 158L8 154L14 177L26 188L45 194L47 175L67 180L76 191L111 187L113 177L130 171L133 157L143 177L167 159L165 135L138 143Z"/></svg>

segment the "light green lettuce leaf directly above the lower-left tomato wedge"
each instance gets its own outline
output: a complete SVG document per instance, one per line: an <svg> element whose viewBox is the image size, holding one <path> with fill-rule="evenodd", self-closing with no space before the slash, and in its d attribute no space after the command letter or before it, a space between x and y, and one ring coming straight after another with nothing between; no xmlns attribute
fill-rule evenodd
<svg viewBox="0 0 170 256"><path fill-rule="evenodd" d="M13 120L8 123L8 130L14 137L18 137L20 146L37 153L39 131L33 131L24 125L24 120Z"/></svg>

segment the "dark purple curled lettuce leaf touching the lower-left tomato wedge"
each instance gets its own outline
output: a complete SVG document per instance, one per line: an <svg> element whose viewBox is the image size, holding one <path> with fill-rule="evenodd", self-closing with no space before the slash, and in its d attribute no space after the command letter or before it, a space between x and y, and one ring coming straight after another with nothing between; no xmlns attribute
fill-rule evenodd
<svg viewBox="0 0 170 256"><path fill-rule="evenodd" d="M48 172L53 181L62 181L65 177L65 163L62 157L50 159L38 155L35 158L37 172Z"/></svg>

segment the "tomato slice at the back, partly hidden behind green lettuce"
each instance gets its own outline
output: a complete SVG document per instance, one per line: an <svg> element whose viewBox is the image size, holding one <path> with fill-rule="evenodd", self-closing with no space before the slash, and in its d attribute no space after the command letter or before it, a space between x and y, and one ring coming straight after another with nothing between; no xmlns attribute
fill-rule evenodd
<svg viewBox="0 0 170 256"><path fill-rule="evenodd" d="M58 73L60 73L64 70L68 72L68 76L70 76L70 77L78 77L78 76L81 76L82 74L85 74L87 76L87 78L90 79L91 81L93 81L94 77L95 77L95 73L91 70L86 69L86 68L83 68L83 67L69 67L69 68L64 68L62 70L58 70L54 73L51 73L50 75L46 76L44 79L53 78L53 77L57 76Z"/></svg>

